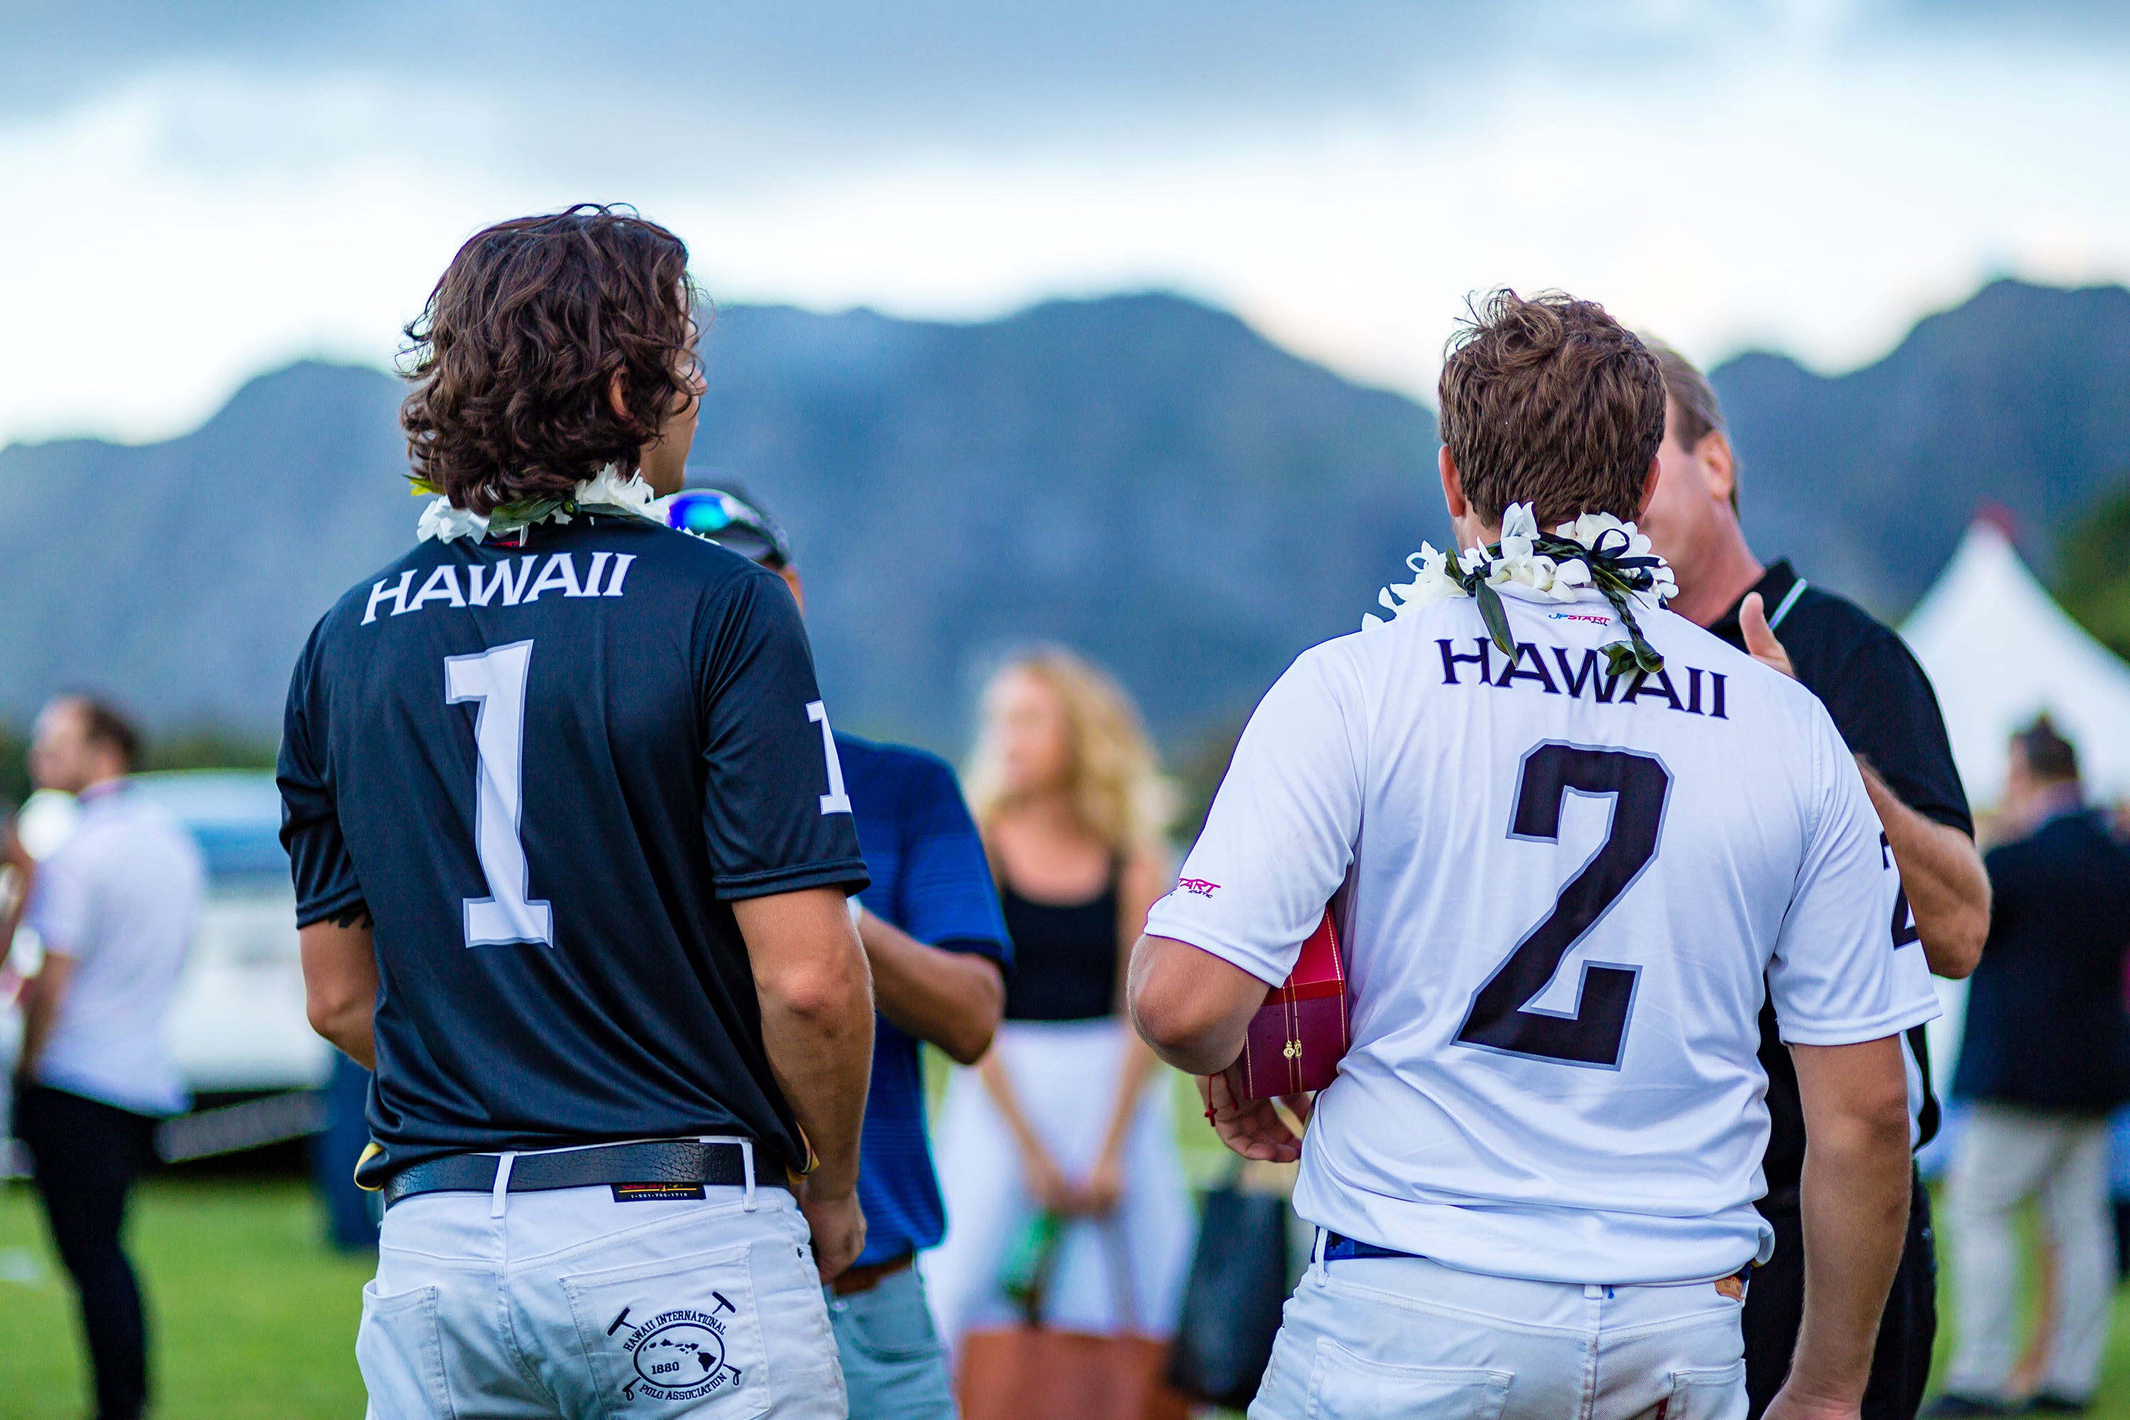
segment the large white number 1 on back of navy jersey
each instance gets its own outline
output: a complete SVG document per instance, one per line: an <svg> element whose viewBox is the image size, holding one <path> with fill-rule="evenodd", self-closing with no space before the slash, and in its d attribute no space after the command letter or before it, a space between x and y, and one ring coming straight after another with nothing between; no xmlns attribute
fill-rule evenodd
<svg viewBox="0 0 2130 1420"><path fill-rule="evenodd" d="M473 656L443 658L443 700L473 700L473 854L488 896L464 898L469 947L554 945L554 911L526 898L530 869L518 837L524 818L526 673L532 643L511 641Z"/></svg>

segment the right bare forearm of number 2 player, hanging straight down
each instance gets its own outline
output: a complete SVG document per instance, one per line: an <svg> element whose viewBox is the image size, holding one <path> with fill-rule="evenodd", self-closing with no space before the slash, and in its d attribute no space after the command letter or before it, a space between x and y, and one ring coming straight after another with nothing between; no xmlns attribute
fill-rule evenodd
<svg viewBox="0 0 2130 1420"><path fill-rule="evenodd" d="M1913 1162L1900 1041L1796 1047L1793 1056L1808 1143L1804 1324L1789 1386L1853 1405L1870 1377L1879 1316L1908 1239ZM1836 1073L1847 1079L1830 1081Z"/></svg>

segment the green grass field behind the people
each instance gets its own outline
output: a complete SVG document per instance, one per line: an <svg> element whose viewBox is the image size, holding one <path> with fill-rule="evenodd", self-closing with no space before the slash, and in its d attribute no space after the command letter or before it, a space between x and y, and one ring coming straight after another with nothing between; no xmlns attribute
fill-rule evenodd
<svg viewBox="0 0 2130 1420"><path fill-rule="evenodd" d="M132 1245L149 1294L162 1420L362 1416L354 1337L371 1265L332 1254L320 1237L317 1207L298 1182L158 1179L141 1190ZM75 1420L87 1403L72 1294L21 1184L0 1192L0 1260L19 1260L17 1250L40 1275L0 1279L0 1416ZM2115 1307L2102 1397L2098 1420L2130 1420L2130 1290Z"/></svg>

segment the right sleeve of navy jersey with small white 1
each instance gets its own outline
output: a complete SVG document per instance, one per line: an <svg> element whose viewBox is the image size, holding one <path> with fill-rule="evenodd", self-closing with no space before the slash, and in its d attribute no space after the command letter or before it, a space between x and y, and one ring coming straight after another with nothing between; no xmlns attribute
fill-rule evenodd
<svg viewBox="0 0 2130 1420"><path fill-rule="evenodd" d="M750 568L720 588L697 634L703 828L718 896L865 888L843 766L790 592Z"/></svg>

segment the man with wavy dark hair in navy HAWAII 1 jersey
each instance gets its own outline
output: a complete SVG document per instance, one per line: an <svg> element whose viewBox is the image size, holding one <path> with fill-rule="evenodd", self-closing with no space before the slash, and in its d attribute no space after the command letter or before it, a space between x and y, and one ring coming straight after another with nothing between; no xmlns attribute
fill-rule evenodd
<svg viewBox="0 0 2130 1420"><path fill-rule="evenodd" d="M290 683L311 1022L375 1071L373 1416L846 1414L867 873L790 596L645 511L690 313L630 213L475 234L409 328L439 496Z"/></svg>

